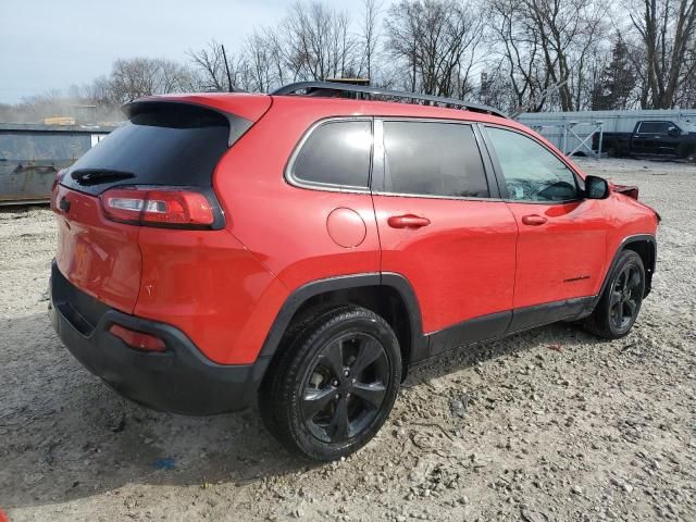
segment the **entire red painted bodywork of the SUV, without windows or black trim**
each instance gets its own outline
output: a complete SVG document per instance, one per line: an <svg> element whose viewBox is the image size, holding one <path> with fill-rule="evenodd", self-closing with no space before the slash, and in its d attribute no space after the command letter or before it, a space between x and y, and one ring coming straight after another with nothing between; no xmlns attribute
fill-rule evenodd
<svg viewBox="0 0 696 522"><path fill-rule="evenodd" d="M299 96L164 99L257 122L213 174L225 228L114 223L104 219L98 198L61 188L60 197L67 195L73 207L70 220L57 210L57 259L61 272L86 293L126 313L178 327L214 362L253 362L287 297L310 282L397 272L413 287L424 333L431 333L489 313L595 295L620 243L633 234L655 235L657 227L648 207L617 192L607 200L547 206L313 190L284 178L302 135L331 116L496 123L533 135L558 153L523 125L496 116ZM336 209L349 210L327 221ZM430 224L389 225L390 216L405 214ZM523 224L530 214L546 223Z"/></svg>

